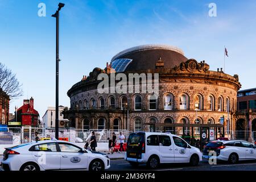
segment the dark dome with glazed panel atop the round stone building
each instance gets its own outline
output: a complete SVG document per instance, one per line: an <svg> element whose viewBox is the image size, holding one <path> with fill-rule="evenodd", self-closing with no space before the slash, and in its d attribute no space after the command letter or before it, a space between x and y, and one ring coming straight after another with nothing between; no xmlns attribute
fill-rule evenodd
<svg viewBox="0 0 256 182"><path fill-rule="evenodd" d="M187 57L184 56L183 51L177 47L150 44L125 49L115 55L111 62L112 65L114 63L113 68L115 69L117 69L117 61L120 62L118 65L123 68L121 69L121 72L138 71L144 69L155 69L155 63L160 57L161 60L164 61L164 68L174 68L175 65L179 65L181 62L188 60Z"/></svg>

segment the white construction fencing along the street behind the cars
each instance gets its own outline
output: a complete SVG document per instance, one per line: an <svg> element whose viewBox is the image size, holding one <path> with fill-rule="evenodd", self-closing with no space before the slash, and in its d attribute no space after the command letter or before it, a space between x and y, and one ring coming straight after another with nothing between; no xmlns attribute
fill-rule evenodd
<svg viewBox="0 0 256 182"><path fill-rule="evenodd" d="M128 130L82 130L82 129L59 129L59 139L66 140L72 143L86 143L94 131L97 142L108 142L108 138L112 139L113 133L117 136L119 142L119 135L125 135L125 142L130 133L133 131ZM158 130L156 132L165 132L183 137L188 142L192 140L191 131L186 130L187 135L183 135L180 130ZM37 127L6 127L0 129L0 144L13 144L18 145L35 141L35 133L38 133L39 138L42 140L55 138L55 129L44 129ZM193 137L196 140L200 139L200 130L194 130ZM220 137L220 133L217 134ZM247 142L254 143L256 141L256 131L229 131L225 134L226 138L246 140Z"/></svg>

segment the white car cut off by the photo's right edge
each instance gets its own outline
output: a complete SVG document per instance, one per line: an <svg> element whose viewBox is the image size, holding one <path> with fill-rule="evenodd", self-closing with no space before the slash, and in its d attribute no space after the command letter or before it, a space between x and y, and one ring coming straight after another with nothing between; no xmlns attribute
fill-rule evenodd
<svg viewBox="0 0 256 182"><path fill-rule="evenodd" d="M256 159L256 146L243 140L214 140L204 147L203 158L225 160L232 164L239 160L252 160Z"/></svg>

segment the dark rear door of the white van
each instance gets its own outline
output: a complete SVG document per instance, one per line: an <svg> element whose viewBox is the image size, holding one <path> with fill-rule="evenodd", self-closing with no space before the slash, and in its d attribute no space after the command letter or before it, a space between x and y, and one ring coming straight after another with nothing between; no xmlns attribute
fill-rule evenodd
<svg viewBox="0 0 256 182"><path fill-rule="evenodd" d="M145 152L145 133L131 133L127 140L127 158L141 159Z"/></svg>

